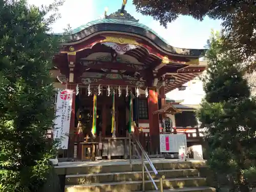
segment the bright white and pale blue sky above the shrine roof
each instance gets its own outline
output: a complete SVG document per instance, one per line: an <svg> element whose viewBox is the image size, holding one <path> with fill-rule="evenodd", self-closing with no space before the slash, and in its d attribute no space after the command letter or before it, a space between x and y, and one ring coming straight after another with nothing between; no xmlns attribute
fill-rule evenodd
<svg viewBox="0 0 256 192"><path fill-rule="evenodd" d="M28 0L30 4L39 6L48 5L53 0ZM53 25L54 32L63 32L67 25L74 29L83 24L103 16L104 8L108 7L108 14L120 9L122 0L66 0L60 7L61 18ZM159 23L149 16L143 16L136 12L132 0L128 0L125 10L133 15L139 22L152 28L160 36L166 39L170 45L180 48L204 48L210 30L220 30L221 22L205 18L203 22L188 16L181 16L175 22L168 24L168 28L160 26Z"/></svg>

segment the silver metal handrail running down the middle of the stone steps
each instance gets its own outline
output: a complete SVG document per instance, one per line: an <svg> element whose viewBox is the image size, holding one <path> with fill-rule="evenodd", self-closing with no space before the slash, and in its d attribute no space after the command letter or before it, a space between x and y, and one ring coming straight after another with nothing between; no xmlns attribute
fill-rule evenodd
<svg viewBox="0 0 256 192"><path fill-rule="evenodd" d="M145 191L145 176L144 176L144 169L146 170L146 173L148 175L148 177L150 177L152 183L154 184L156 190L158 190L158 187L154 181L154 179L152 178L150 172L148 171L147 167L146 167L146 164L144 162L144 157L145 159L147 160L148 164L150 164L153 172L155 173L155 175L158 175L158 172L157 172L157 169L156 167L153 165L152 161L150 160L150 158L148 157L148 155L146 154L146 152L144 151L141 143L137 140L137 138L132 134L130 133L129 134L129 142L130 142L130 163L132 163L132 139L131 139L131 136L133 136L133 139L135 140L135 142L137 143L137 145L139 146L140 150L141 150L141 165L142 165L142 191ZM140 157L140 154L136 148L135 150L137 153L138 153L138 156Z"/></svg>

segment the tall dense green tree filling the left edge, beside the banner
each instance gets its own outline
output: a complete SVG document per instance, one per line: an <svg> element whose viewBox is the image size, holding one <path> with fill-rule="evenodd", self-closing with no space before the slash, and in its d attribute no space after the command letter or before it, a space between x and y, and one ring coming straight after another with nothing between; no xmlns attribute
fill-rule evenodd
<svg viewBox="0 0 256 192"><path fill-rule="evenodd" d="M0 191L36 192L51 169L50 69L60 39L49 32L62 2L38 8L0 0Z"/></svg>

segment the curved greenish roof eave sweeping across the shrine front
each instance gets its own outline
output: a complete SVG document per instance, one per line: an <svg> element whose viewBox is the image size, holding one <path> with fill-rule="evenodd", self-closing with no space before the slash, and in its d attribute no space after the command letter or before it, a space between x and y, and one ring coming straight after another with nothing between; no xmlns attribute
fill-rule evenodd
<svg viewBox="0 0 256 192"><path fill-rule="evenodd" d="M126 27L124 27L124 25ZM168 42L159 36L153 29L143 24L134 22L133 20L125 19L103 18L93 20L92 22L71 30L67 36L68 39L70 39L69 42L74 42L99 31L128 32L145 36L153 41L157 46L161 47L163 50L175 54L201 56L204 55L206 51L206 49L182 49L170 46ZM64 33L54 33L54 35L62 36Z"/></svg>

